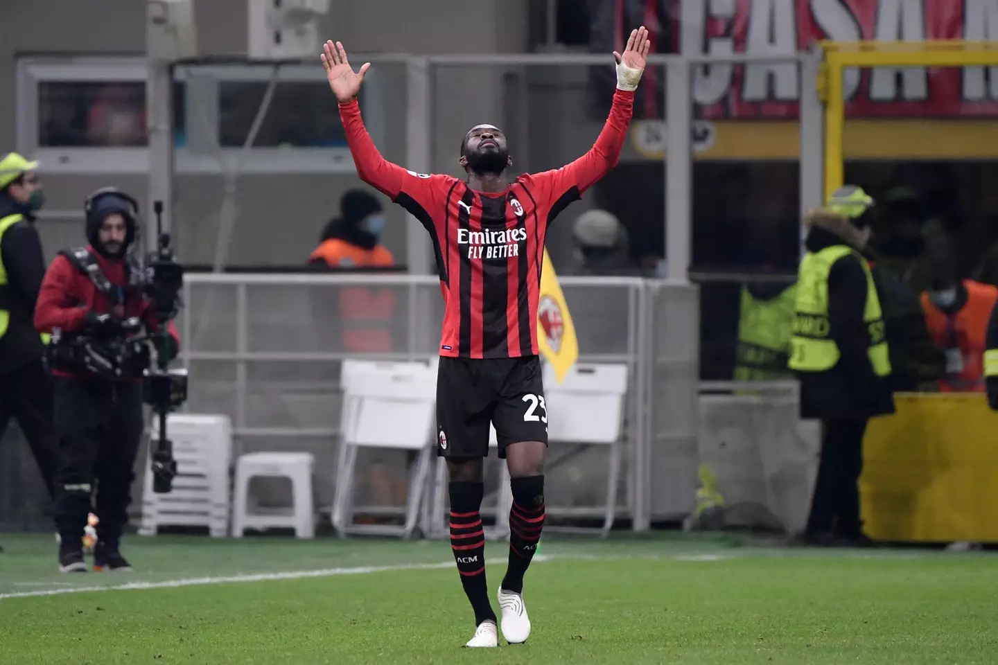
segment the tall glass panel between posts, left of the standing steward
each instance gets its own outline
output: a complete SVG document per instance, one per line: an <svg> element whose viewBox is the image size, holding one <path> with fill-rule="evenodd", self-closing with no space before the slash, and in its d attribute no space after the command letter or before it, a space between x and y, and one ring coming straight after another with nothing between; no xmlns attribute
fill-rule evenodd
<svg viewBox="0 0 998 665"><path fill-rule="evenodd" d="M732 82L757 81L758 67L693 71L691 276L709 381L787 378L775 347L788 338L800 255L799 84L795 64L773 64L769 101L749 102Z"/></svg>

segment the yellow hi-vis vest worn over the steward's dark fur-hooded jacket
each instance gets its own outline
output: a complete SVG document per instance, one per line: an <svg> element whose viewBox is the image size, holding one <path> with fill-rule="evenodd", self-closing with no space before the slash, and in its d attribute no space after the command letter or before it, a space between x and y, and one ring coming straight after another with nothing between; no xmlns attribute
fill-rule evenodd
<svg viewBox="0 0 998 665"><path fill-rule="evenodd" d="M797 305L790 337L790 369L798 372L826 372L838 362L839 350L828 336L828 273L835 261L854 255L866 273L866 308L863 322L869 334L869 359L877 376L890 374L887 342L884 336L880 299L866 260L846 245L833 245L808 252L800 261L797 276Z"/></svg>

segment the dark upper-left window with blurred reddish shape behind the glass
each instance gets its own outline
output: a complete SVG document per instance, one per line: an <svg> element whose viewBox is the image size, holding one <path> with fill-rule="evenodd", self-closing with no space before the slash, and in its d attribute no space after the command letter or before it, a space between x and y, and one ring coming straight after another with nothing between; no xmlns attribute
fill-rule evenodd
<svg viewBox="0 0 998 665"><path fill-rule="evenodd" d="M174 84L174 123L184 134L185 87ZM141 81L41 81L41 148L142 148L147 145L146 84Z"/></svg>

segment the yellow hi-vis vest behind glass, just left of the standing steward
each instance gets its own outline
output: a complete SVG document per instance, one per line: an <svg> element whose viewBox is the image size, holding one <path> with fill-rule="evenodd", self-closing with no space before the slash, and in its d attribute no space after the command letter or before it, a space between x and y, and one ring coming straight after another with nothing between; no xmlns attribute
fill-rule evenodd
<svg viewBox="0 0 998 665"><path fill-rule="evenodd" d="M736 381L771 381L791 376L786 367L790 328L796 308L796 285L771 300L757 300L742 288Z"/></svg>

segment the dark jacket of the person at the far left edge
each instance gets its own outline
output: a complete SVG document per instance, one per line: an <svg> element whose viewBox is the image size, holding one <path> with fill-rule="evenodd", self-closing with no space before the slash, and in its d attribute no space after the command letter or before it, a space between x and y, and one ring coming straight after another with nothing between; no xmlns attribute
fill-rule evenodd
<svg viewBox="0 0 998 665"><path fill-rule="evenodd" d="M0 338L0 377L37 362L45 354L45 345L32 323L45 276L45 258L34 217L25 212L7 193L0 193L0 219L11 214L23 217L0 238L0 256L7 271L9 302L5 309L10 312L7 333Z"/></svg>

